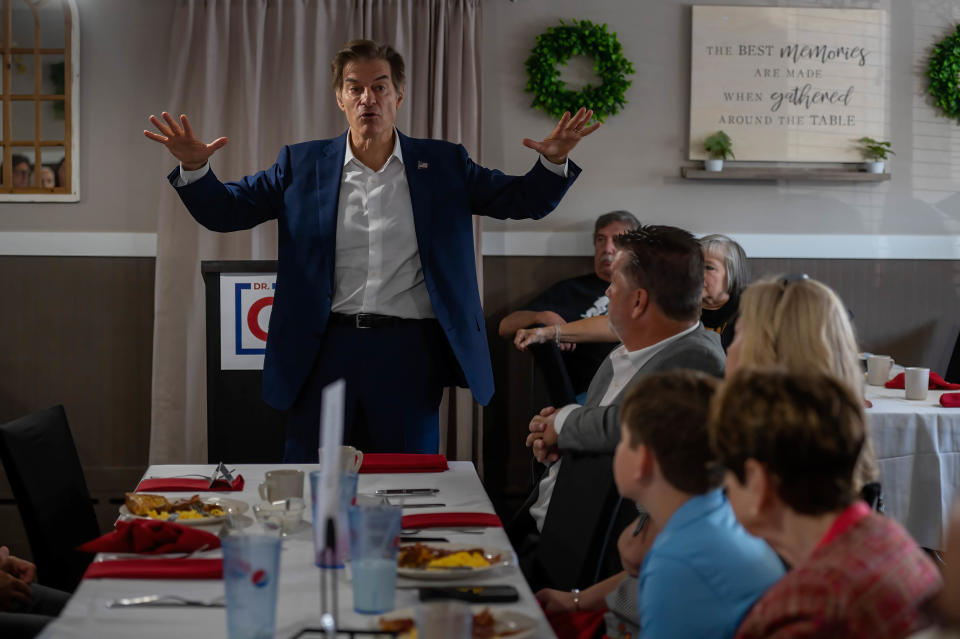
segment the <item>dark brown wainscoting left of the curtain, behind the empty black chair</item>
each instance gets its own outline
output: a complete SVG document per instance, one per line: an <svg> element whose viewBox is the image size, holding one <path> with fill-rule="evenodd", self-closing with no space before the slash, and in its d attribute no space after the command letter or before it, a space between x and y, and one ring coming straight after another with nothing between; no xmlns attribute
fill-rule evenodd
<svg viewBox="0 0 960 639"><path fill-rule="evenodd" d="M0 273L0 423L63 404L101 529L112 528L147 466L154 259L0 256ZM0 544L30 556L2 473Z"/></svg>

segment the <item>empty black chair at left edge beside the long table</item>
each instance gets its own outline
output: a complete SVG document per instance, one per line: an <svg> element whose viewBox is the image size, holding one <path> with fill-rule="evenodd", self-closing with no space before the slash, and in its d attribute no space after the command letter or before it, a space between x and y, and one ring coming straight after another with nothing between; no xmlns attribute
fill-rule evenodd
<svg viewBox="0 0 960 639"><path fill-rule="evenodd" d="M73 591L92 555L76 550L100 535L63 406L0 426L0 461L17 500L37 580Z"/></svg>

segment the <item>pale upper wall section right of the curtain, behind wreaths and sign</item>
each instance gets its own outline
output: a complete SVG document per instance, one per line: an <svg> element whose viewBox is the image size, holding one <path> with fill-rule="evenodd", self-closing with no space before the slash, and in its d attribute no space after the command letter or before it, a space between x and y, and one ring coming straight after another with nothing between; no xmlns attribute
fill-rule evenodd
<svg viewBox="0 0 960 639"><path fill-rule="evenodd" d="M684 0L489 0L484 4L482 158L487 166L525 171L533 153L520 140L540 138L553 126L549 116L529 107L532 94L523 91L524 61L536 36L560 18L605 22L617 32L636 70L626 110L608 119L575 150L573 157L583 174L558 210L538 222L485 220L483 228L490 237L507 229L539 232L544 237L532 244L549 250L569 243L572 236L564 238L564 232L584 232L583 248L589 250L592 220L598 213L619 208L647 222L697 233L854 234L868 243L882 236L880 244L888 243L890 236L896 241L899 234L960 235L960 127L934 112L923 76L931 44L960 21L960 0L735 3L888 12L889 139L896 151L888 170L893 178L840 185L703 183L680 178L679 167L692 164L685 160L691 4ZM732 3L698 0L697 4ZM500 235L497 241L502 239ZM842 250L842 242L840 246Z"/></svg>

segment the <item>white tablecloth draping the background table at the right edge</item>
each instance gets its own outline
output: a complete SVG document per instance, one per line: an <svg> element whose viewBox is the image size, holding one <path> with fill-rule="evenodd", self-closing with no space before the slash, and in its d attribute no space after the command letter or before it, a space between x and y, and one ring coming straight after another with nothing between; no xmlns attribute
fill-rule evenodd
<svg viewBox="0 0 960 639"><path fill-rule="evenodd" d="M913 401L902 389L866 392L887 514L921 546L936 549L960 486L960 408L940 406L942 394Z"/></svg>

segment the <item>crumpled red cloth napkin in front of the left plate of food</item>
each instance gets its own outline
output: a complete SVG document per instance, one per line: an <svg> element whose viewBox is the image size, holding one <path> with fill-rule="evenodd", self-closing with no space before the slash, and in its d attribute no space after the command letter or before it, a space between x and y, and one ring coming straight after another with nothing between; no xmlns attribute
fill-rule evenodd
<svg viewBox="0 0 960 639"><path fill-rule="evenodd" d="M220 538L190 526L152 519L118 521L117 528L80 546L83 552L193 552L219 548Z"/></svg>

